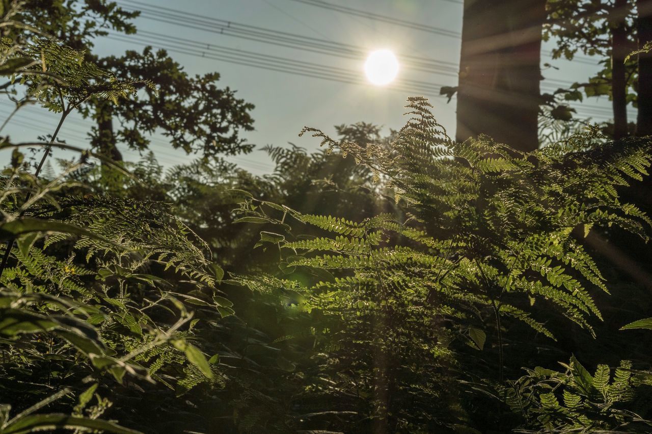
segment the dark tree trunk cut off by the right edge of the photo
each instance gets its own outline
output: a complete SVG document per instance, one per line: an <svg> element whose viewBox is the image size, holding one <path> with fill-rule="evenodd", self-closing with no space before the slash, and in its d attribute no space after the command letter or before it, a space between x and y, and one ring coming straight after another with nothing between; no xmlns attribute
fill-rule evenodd
<svg viewBox="0 0 652 434"><path fill-rule="evenodd" d="M636 1L638 48L652 41L652 0ZM652 52L638 55L638 117L636 135L652 135Z"/></svg>

